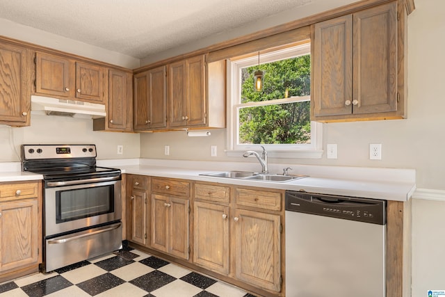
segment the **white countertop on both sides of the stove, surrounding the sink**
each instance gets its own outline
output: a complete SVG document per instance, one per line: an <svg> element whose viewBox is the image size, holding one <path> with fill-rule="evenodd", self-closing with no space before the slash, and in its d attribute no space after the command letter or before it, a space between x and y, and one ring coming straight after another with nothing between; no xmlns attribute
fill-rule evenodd
<svg viewBox="0 0 445 297"><path fill-rule="evenodd" d="M291 191L407 201L416 190L415 170L398 168L355 168L342 166L295 166L291 174L309 175L289 182L264 182L200 175L226 170L258 170L258 163L178 161L159 159L97 160L98 166L116 167L122 173L192 179L202 182L258 186ZM270 164L270 172L282 172L286 164ZM228 169L229 168L229 169ZM19 162L0 163L0 182L42 179L42 175L20 171Z"/></svg>

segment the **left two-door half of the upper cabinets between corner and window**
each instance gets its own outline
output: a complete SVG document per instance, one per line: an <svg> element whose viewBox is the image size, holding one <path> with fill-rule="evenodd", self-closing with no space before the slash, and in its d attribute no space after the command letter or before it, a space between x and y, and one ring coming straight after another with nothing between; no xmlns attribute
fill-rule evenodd
<svg viewBox="0 0 445 297"><path fill-rule="evenodd" d="M134 76L134 130L165 129L167 127L167 97L165 66Z"/></svg>

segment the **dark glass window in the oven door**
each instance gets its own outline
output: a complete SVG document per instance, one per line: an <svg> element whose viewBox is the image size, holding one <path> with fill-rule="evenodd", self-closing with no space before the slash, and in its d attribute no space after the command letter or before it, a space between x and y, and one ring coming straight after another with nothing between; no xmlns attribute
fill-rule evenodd
<svg viewBox="0 0 445 297"><path fill-rule="evenodd" d="M114 185L56 191L56 223L114 212Z"/></svg>

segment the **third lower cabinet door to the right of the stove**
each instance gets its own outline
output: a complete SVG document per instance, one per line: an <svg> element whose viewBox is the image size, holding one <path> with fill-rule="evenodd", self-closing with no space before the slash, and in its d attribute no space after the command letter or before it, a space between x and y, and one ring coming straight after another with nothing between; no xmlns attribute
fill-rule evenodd
<svg viewBox="0 0 445 297"><path fill-rule="evenodd" d="M188 259L189 255L189 209L190 201L170 197L168 208L168 252L171 255Z"/></svg>

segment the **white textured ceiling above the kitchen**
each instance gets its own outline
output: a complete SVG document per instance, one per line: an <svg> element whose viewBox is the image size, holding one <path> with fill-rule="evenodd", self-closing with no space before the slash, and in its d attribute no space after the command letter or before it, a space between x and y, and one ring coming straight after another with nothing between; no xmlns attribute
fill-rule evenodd
<svg viewBox="0 0 445 297"><path fill-rule="evenodd" d="M0 17L135 58L316 0L0 0Z"/></svg>

